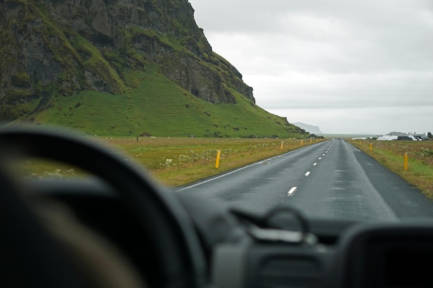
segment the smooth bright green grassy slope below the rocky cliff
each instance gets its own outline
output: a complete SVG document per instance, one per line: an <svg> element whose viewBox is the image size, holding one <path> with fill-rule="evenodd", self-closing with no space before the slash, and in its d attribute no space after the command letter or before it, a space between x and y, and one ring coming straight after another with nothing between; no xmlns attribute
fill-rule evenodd
<svg viewBox="0 0 433 288"><path fill-rule="evenodd" d="M171 137L302 137L300 128L270 114L236 90L237 104L212 104L188 93L157 66L125 73L126 92L84 91L21 105L41 106L15 124L66 126L90 135ZM33 107L32 107L33 108ZM30 108L30 110L33 110Z"/></svg>

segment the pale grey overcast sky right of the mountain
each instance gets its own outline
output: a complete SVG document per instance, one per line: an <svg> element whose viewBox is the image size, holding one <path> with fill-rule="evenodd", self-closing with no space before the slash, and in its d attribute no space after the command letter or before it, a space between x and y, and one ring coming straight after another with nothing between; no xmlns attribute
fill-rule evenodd
<svg viewBox="0 0 433 288"><path fill-rule="evenodd" d="M433 1L189 1L266 111L323 133L433 133Z"/></svg>

